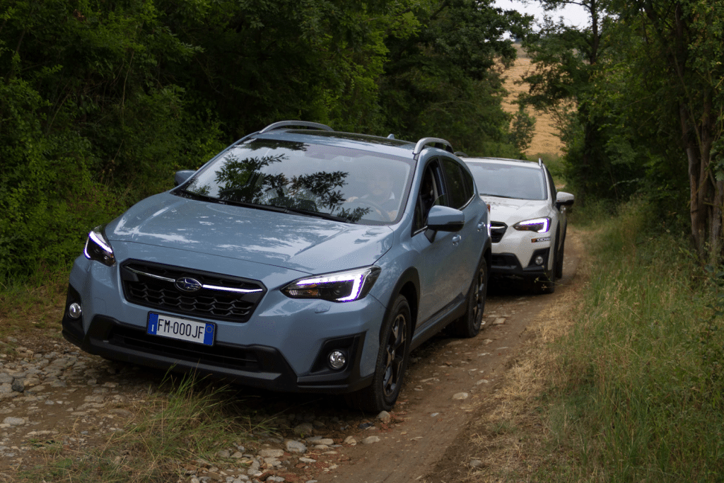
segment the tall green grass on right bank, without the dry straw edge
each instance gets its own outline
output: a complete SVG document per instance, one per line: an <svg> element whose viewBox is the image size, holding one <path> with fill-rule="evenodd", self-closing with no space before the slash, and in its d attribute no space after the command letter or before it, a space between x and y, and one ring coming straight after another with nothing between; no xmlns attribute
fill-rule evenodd
<svg viewBox="0 0 724 483"><path fill-rule="evenodd" d="M576 481L724 478L724 290L645 201L599 217L589 280L556 345L554 440Z"/></svg>

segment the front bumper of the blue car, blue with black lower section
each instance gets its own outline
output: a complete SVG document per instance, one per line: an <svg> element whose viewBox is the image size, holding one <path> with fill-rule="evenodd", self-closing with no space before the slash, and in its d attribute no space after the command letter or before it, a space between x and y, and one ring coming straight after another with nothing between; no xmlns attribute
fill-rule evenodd
<svg viewBox="0 0 724 483"><path fill-rule="evenodd" d="M161 370L221 377L282 392L345 393L371 383L379 350L384 306L368 296L350 303L292 300L270 290L246 322L193 319L216 324L214 345L146 333L148 313L174 311L127 301L110 267L79 257L74 266L62 335L88 353ZM77 319L71 303L83 308ZM347 364L332 369L329 353L341 350Z"/></svg>

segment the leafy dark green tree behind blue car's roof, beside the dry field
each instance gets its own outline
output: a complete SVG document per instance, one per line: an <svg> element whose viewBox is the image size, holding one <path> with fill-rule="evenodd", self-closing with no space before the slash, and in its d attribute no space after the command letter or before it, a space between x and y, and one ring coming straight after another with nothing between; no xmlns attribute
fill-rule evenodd
<svg viewBox="0 0 724 483"><path fill-rule="evenodd" d="M413 31L390 30L380 80L384 125L395 135L446 138L468 154L497 154L510 139L499 62L515 59L506 31L522 35L531 17L481 1L409 2ZM511 146L511 150L516 149Z"/></svg>

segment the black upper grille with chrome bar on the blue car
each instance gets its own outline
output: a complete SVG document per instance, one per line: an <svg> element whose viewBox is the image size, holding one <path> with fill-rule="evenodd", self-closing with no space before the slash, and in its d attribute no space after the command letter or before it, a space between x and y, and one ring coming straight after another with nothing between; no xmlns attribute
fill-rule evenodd
<svg viewBox="0 0 724 483"><path fill-rule="evenodd" d="M231 322L247 322L266 293L256 280L144 261L127 261L121 267L121 277L123 293L131 303ZM203 287L191 293L180 290L175 282L185 277Z"/></svg>

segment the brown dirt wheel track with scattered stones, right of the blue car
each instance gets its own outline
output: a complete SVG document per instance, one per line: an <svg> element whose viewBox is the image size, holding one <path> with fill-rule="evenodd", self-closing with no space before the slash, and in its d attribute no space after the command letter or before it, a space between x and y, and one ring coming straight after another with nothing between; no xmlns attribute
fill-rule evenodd
<svg viewBox="0 0 724 483"><path fill-rule="evenodd" d="M526 328L549 304L562 303L576 283L581 242L568 230L563 279L551 295L530 295L492 286L485 310L486 327L473 339L437 337L412 356L400 401L405 422L384 433L376 445L345 450L350 463L320 476L319 483L444 482L435 467L475 415L479 403L520 353ZM402 414L398 411L399 414ZM447 481L450 481L447 479Z"/></svg>

